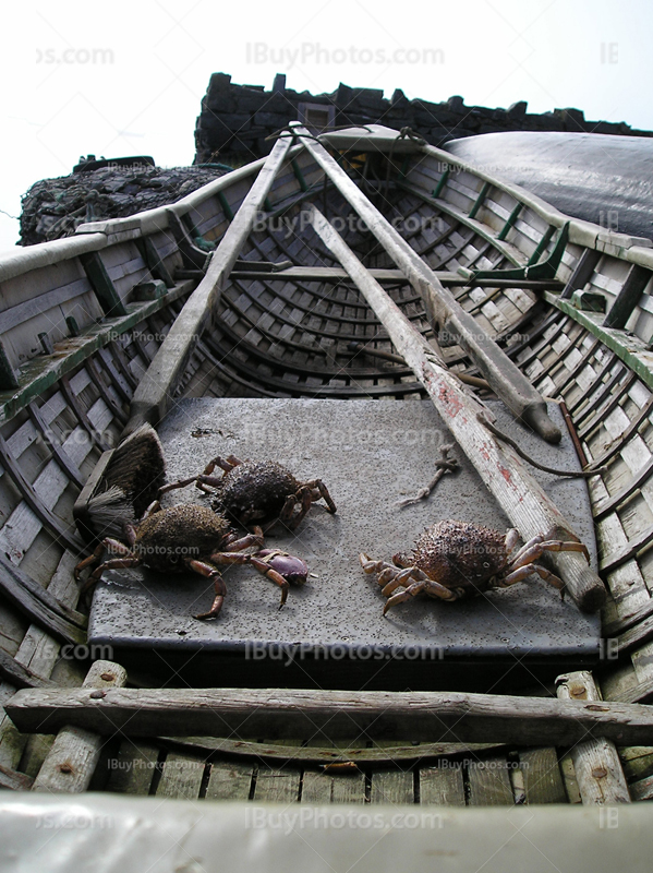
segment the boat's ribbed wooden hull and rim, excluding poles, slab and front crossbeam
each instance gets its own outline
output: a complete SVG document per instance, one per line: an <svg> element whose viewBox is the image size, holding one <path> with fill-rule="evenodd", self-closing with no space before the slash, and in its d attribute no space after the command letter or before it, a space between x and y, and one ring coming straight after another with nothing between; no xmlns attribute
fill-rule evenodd
<svg viewBox="0 0 653 873"><path fill-rule="evenodd" d="M582 686L567 696L650 702L651 241L569 219L533 194L395 131L338 132L322 141L448 283L480 331L543 395L564 402L584 461L607 468L589 480L608 588L605 658L596 685L591 677L584 685L572 679ZM235 220L263 166L261 160L234 170L172 206L84 225L69 239L0 262L0 705L17 689L76 686L84 678L88 661L61 657L63 646L71 651L85 641L72 574L83 549L72 525L73 503L101 452L116 445L137 386L205 276L207 250ZM174 398L425 396L354 284L304 220L310 201L413 327L435 340L421 296L310 152L293 145L265 199L265 220L237 253L211 326L196 338ZM495 275L509 270L519 272ZM604 312L596 311L596 301ZM460 346L445 346L443 354L455 373L480 375ZM206 738L114 739L101 754L98 746L95 776L86 767L77 785L243 800L573 803L581 800L577 776L590 760L578 749L573 756L565 749L516 745L498 751L469 745L467 752L450 745L424 755L416 746L411 757L402 743L394 770L368 764L365 773L325 777L301 756L289 756L288 745L277 752L268 745L261 743L256 752L251 743L243 751ZM19 733L4 715L0 787L28 787L47 749L43 737ZM432 752L530 766L515 767L517 777L489 764L422 766ZM651 748L620 749L616 764L614 746L602 754L622 770L618 776L628 779L632 800L653 797L653 734ZM111 756L124 766L108 770ZM355 758L351 743L346 757ZM589 782L595 788L602 779L598 773ZM590 796L585 786L583 800L595 802Z"/></svg>

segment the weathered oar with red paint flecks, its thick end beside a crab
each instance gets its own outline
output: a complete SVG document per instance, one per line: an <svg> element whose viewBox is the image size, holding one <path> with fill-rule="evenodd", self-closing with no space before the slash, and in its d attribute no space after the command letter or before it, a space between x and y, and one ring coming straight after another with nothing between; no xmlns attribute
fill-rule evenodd
<svg viewBox="0 0 653 873"><path fill-rule="evenodd" d="M524 541L552 529L556 529L564 539L576 537L569 522L524 468L515 450L497 442L481 423L480 416L492 420L492 414L485 405L464 391L434 349L314 206L312 220L316 232L355 282L387 330L395 348L424 385L458 444ZM605 587L582 554L557 552L548 557L578 606L591 612L600 609L605 601Z"/></svg>

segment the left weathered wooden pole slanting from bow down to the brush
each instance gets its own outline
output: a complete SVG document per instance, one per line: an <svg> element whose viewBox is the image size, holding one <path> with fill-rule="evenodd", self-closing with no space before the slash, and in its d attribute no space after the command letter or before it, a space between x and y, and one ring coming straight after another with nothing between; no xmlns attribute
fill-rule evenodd
<svg viewBox="0 0 653 873"><path fill-rule="evenodd" d="M278 140L241 207L213 254L206 275L184 303L166 339L147 368L131 405L131 431L144 421L156 424L167 412L178 380L209 324L216 303L241 253L257 212L281 168L290 140Z"/></svg>

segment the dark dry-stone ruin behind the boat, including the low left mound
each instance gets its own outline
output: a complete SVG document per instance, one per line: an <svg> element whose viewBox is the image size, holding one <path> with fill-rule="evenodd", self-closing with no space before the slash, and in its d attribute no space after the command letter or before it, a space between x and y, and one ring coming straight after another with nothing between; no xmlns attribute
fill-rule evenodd
<svg viewBox="0 0 653 873"><path fill-rule="evenodd" d="M265 91L262 85L234 85L230 75L214 73L197 118L192 167L162 169L146 157L82 158L70 176L44 179L27 191L20 244L68 237L86 222L174 203L227 172L229 166L267 155L274 144L267 137L298 119L316 132L370 123L397 130L409 127L437 146L479 133L513 130L653 136L653 132L632 130L625 122L585 121L579 109L554 109L544 115L527 109L524 101L509 109L465 106L458 96L444 103L409 100L399 88L387 100L380 89L343 84L332 94L312 95L287 88L285 75L277 75L273 89Z"/></svg>

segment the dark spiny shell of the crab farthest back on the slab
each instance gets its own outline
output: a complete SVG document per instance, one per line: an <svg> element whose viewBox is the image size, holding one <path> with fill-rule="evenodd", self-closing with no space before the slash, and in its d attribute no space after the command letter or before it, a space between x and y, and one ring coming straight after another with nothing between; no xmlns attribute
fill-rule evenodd
<svg viewBox="0 0 653 873"><path fill-rule="evenodd" d="M274 461L243 461L216 486L213 507L235 522L267 522L278 518L286 498L300 487L290 470Z"/></svg>

